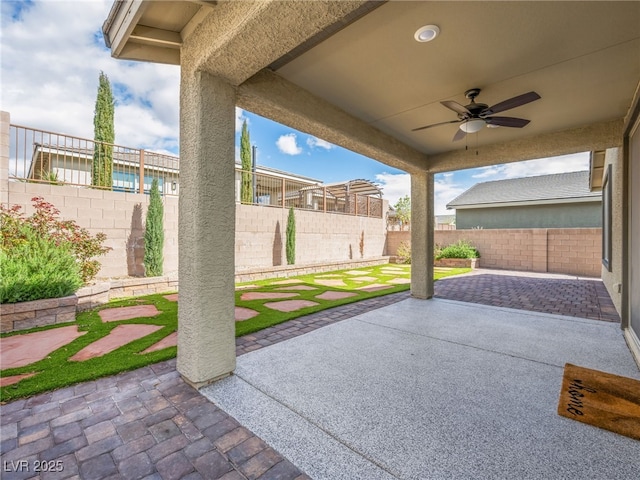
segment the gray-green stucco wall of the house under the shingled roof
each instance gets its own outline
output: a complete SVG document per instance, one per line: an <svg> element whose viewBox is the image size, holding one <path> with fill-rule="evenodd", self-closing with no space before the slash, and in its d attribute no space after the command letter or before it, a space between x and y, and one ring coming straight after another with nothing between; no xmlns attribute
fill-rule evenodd
<svg viewBox="0 0 640 480"><path fill-rule="evenodd" d="M602 226L600 201L456 210L458 230L487 228L592 228Z"/></svg>

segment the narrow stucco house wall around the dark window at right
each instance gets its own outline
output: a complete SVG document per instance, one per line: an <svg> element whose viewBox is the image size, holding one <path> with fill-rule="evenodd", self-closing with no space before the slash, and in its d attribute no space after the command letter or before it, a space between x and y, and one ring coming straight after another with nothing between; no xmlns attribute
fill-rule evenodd
<svg viewBox="0 0 640 480"><path fill-rule="evenodd" d="M622 312L622 294L618 285L622 284L622 185L623 185L623 158L622 149L611 148L606 151L604 157L604 171L611 165L611 271L602 265L601 275L609 296L618 312Z"/></svg>

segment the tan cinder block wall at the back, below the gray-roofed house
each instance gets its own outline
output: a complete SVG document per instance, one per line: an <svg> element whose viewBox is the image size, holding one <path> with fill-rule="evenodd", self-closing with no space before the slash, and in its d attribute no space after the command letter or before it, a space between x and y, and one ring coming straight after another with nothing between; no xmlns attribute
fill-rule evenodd
<svg viewBox="0 0 640 480"><path fill-rule="evenodd" d="M480 266L504 270L600 277L600 228L436 230L434 241L446 246L468 240L480 251ZM395 255L411 232L388 232L387 255Z"/></svg>

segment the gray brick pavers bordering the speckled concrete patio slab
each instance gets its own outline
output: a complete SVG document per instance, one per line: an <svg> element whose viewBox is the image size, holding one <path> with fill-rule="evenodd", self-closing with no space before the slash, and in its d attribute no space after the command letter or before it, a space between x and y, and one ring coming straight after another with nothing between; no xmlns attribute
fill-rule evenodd
<svg viewBox="0 0 640 480"><path fill-rule="evenodd" d="M440 298L619 321L602 282L593 280L476 274L440 280L435 292ZM408 297L402 292L307 315L238 338L236 352ZM2 405L2 478L308 478L184 383L175 365L161 362ZM60 471L38 474L36 466Z"/></svg>

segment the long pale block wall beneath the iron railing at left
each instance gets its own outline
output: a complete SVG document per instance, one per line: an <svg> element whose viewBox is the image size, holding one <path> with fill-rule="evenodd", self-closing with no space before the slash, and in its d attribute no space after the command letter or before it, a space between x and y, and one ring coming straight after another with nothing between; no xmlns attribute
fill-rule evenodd
<svg viewBox="0 0 640 480"><path fill-rule="evenodd" d="M92 234L104 232L113 248L99 260L99 278L142 276L144 222L148 195L88 188L8 182L11 205L33 213L31 198L52 203L64 220L74 220ZM178 271L178 198L164 197L164 273ZM383 211L387 211L385 201ZM286 265L285 242L289 211L279 207L236 204L236 271ZM385 219L295 210L296 264L316 264L380 257L386 246ZM363 252L360 239L364 232Z"/></svg>

